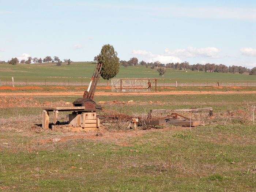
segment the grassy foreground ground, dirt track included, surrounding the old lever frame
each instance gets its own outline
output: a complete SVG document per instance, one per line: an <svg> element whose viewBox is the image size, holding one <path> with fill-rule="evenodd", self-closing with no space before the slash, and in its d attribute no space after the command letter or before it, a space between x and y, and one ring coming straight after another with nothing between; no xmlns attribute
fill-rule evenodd
<svg viewBox="0 0 256 192"><path fill-rule="evenodd" d="M2 191L256 191L254 92L98 94L94 100L105 101L98 114L212 107L214 117L186 112L206 126L138 131L126 121L105 122L87 133L40 127L44 106L69 106L80 95L13 92L0 96ZM59 120L67 114L60 112Z"/></svg>

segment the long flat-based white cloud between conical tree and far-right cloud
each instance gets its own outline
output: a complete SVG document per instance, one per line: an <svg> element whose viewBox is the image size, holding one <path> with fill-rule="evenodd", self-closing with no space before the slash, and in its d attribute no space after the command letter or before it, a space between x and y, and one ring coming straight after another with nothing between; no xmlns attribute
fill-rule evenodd
<svg viewBox="0 0 256 192"><path fill-rule="evenodd" d="M192 58L192 57L217 57L217 54L220 52L219 49L215 47L206 47L206 48L193 48L188 47L187 49L175 49L169 50L165 49L165 54L174 55L178 57Z"/></svg>

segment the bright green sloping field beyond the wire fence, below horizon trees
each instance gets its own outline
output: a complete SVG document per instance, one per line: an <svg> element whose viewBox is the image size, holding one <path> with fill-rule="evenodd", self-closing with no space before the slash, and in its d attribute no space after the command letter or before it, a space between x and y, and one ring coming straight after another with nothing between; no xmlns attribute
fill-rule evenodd
<svg viewBox="0 0 256 192"><path fill-rule="evenodd" d="M15 82L23 82L20 85L27 85L30 82L41 82L38 85L53 85L54 82L59 82L64 85L85 85L90 82L95 64L92 62L73 62L71 65L63 63L61 66L56 66L55 63L43 64L0 64L0 79L2 85L11 85L11 77L14 77ZM143 74L143 76L142 76ZM216 86L217 82L222 86L256 86L255 75L248 74L224 74L224 73L206 73L202 71L181 71L176 69L166 68L164 78L159 76L156 69L152 70L145 66L128 66L125 68L120 65L120 71L116 78L158 78L158 84L172 85L174 82L179 82L183 86ZM106 85L106 80L102 78L99 84ZM18 84L17 84L18 85ZM58 84L60 85L60 84Z"/></svg>

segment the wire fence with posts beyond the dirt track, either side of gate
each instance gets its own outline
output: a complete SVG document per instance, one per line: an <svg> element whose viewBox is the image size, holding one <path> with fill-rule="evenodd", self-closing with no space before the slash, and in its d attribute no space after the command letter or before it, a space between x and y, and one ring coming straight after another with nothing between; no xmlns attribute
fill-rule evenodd
<svg viewBox="0 0 256 192"><path fill-rule="evenodd" d="M63 81L63 82L14 82L14 85L16 86L88 86L89 82L69 82L69 81ZM0 86L12 86L11 81L1 81L0 80ZM98 86L107 86L106 82L99 82ZM109 86L111 86L111 82L109 82ZM173 83L159 83L157 82L157 86L171 86L175 87L176 83L175 81ZM191 83L181 83L177 81L177 87L204 87L204 86L227 86L227 87L254 87L256 86L256 82L204 82L204 83L195 83L191 81Z"/></svg>

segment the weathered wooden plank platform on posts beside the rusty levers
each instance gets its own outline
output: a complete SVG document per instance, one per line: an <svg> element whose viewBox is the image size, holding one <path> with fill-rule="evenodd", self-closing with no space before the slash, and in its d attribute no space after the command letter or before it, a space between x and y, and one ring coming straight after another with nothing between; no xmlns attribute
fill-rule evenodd
<svg viewBox="0 0 256 192"><path fill-rule="evenodd" d="M42 128L48 129L49 128L49 112L53 112L53 124L56 124L57 117L59 114L59 111L72 111L72 112L88 112L90 109L86 109L84 106L80 107L46 107L43 108L43 114L42 114ZM94 109L91 109L91 111L94 111Z"/></svg>

